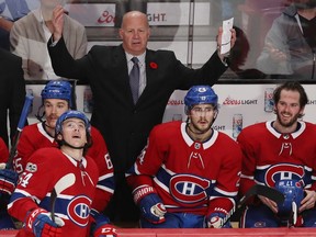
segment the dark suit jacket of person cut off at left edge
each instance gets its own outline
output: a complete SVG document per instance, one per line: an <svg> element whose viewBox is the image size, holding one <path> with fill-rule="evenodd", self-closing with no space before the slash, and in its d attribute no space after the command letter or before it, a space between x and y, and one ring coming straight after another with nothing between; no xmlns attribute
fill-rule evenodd
<svg viewBox="0 0 316 237"><path fill-rule="evenodd" d="M0 48L0 136L8 145L8 110L11 139L15 134L25 99L22 59Z"/></svg>

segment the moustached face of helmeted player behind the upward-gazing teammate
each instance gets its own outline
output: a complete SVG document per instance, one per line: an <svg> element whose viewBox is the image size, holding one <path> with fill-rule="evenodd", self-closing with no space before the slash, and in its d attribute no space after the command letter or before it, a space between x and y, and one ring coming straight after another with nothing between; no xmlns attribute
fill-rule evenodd
<svg viewBox="0 0 316 237"><path fill-rule="evenodd" d="M46 99L44 101L46 125L55 128L58 117L68 110L69 105L66 100Z"/></svg>

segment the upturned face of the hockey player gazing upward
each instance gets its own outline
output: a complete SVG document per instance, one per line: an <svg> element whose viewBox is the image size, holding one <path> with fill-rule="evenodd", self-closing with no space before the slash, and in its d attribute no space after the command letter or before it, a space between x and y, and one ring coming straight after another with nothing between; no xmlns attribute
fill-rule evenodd
<svg viewBox="0 0 316 237"><path fill-rule="evenodd" d="M87 143L86 125L82 120L71 117L63 123L63 138L74 147L82 147Z"/></svg>

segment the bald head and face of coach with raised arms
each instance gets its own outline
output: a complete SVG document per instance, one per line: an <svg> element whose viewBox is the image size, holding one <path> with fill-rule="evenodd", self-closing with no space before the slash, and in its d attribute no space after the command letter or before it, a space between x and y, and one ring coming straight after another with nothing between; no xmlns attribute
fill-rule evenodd
<svg viewBox="0 0 316 237"><path fill-rule="evenodd" d="M123 19L120 36L125 52L134 56L146 50L150 29L145 14L138 12L125 15Z"/></svg>

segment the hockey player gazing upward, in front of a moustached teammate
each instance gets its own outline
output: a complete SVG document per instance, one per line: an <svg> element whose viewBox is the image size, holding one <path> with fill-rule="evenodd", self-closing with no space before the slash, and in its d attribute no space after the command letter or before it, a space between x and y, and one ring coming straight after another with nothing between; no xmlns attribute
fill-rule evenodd
<svg viewBox="0 0 316 237"><path fill-rule="evenodd" d="M8 212L24 222L18 236L116 236L106 217L90 214L99 169L86 156L92 143L86 115L61 114L55 139L59 148L41 148L29 158L11 196Z"/></svg>

